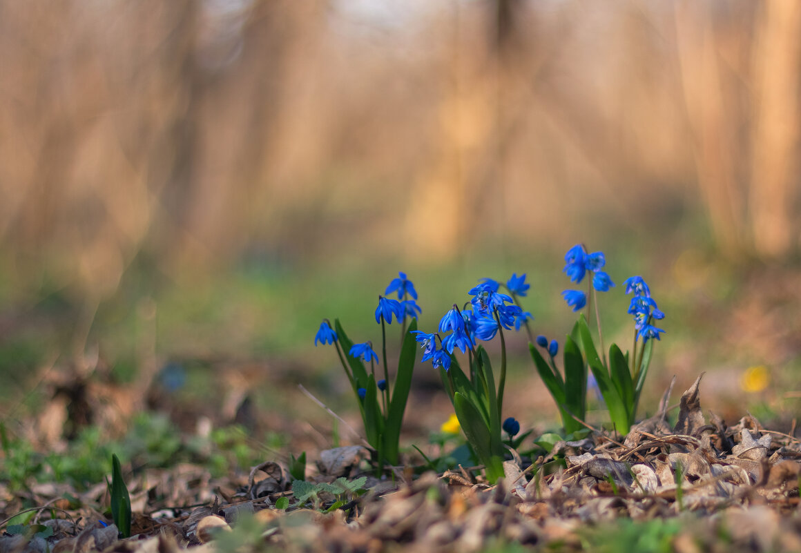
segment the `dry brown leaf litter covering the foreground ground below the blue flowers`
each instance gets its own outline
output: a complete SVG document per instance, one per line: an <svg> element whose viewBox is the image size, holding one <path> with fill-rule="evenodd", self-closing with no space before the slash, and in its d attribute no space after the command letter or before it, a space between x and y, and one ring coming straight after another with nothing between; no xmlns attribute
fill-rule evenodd
<svg viewBox="0 0 801 553"><path fill-rule="evenodd" d="M369 451L360 446L322 451L318 474L294 485L288 467L272 460L220 479L182 463L131 479L132 537L119 539L102 511L104 483L81 494L61 484L0 484L0 553L471 553L498 543L588 551L605 531L629 535L627 524L670 520L678 524L665 527L669 548L659 551L801 551L801 442L751 415L731 427L711 413L707 422L701 379L682 395L673 428L671 383L657 414L624 441L594 430L533 463L511 451L495 486L461 466L417 476L396 467L378 479L363 471ZM282 499L286 508L277 508ZM12 528L8 518L30 505L28 526Z"/></svg>

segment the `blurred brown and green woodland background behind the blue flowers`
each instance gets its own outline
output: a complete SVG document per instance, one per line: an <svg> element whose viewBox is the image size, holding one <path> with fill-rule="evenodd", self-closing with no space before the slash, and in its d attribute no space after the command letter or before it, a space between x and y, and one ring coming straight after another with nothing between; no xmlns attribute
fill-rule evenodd
<svg viewBox="0 0 801 553"><path fill-rule="evenodd" d="M705 407L790 420L799 37L794 0L0 0L0 411L328 428L296 387L352 410L321 319L377 341L398 270L423 328L525 272L560 337L585 242L667 313L642 411L706 371ZM553 426L510 347L509 408Z"/></svg>

